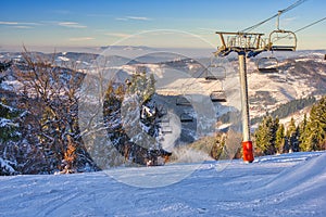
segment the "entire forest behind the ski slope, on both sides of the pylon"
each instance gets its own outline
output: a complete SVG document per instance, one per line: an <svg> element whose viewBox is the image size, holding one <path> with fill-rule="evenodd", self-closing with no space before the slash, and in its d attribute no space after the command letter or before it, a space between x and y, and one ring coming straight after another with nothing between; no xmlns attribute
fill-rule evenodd
<svg viewBox="0 0 326 217"><path fill-rule="evenodd" d="M55 66L53 60L27 51L23 52L23 58L24 63L3 63L0 68L0 84L7 79L16 79L21 84L15 92L5 88L0 91L0 175L83 173L103 168L98 165L99 161L95 163L93 150L89 150L83 140L87 132L78 126L78 101L85 97L78 90L85 74L73 64ZM9 67L13 73L8 74ZM160 145L158 122L162 114L151 100L154 84L152 76L136 72L125 84L110 82L106 87L103 111L100 111L106 131L103 138L112 141L105 153L110 154L104 161L106 165L159 164L159 156L165 162L172 154ZM135 99L141 104L136 108L131 106ZM124 114L120 112L122 106L127 111ZM293 118L287 127L280 124L279 118L306 106L311 110L299 125ZM129 130L122 122L124 118L130 120ZM134 126L139 114L140 127L147 133L133 132L137 131ZM293 100L254 122L260 123L252 135L255 155L326 149L326 95L318 101L313 97ZM152 146L138 145L146 140L143 135L154 138ZM215 159L240 157L238 145L231 148L233 156L226 156L227 139L240 144L237 132L229 131L217 132L189 146Z"/></svg>

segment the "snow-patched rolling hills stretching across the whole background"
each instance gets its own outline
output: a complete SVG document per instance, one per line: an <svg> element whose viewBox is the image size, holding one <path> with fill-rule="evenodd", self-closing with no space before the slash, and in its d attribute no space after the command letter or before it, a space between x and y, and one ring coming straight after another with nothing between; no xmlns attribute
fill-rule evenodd
<svg viewBox="0 0 326 217"><path fill-rule="evenodd" d="M154 52L154 49L150 48L133 48L133 47L113 47L115 50L122 50L125 52L130 51L147 51L145 55L138 53L137 59L122 58L120 55L112 55L110 58L110 66L116 68L118 72L112 78L114 81L124 82L127 78L130 78L135 72L148 72L152 73L156 79L156 93L164 97L166 110L178 111L177 116L183 113L190 114L195 120L196 116L200 112L197 110L188 110L175 105L177 95L187 95L187 100L192 102L195 97L201 95L203 103L215 111L214 116L217 122L224 115L233 111L240 111L240 91L239 91L239 78L238 78L238 60L236 56L229 59L189 59L184 55L178 55L168 52ZM151 52L148 52L148 51ZM113 52L113 51L112 51ZM115 52L113 52L115 53ZM121 54L120 52L117 52ZM267 54L262 54L253 59L247 60L248 67L248 84L249 84L249 104L250 104L250 118L251 120L262 117L268 112L276 111L280 105L289 103L293 100L305 99L310 95L316 99L319 95L326 93L326 64L323 60L325 51L297 51L293 53L275 52L273 56L277 59L277 72L274 73L259 73L258 62L265 58ZM46 59L49 59L51 53L37 53ZM116 53L115 53L116 54ZM209 53L208 53L209 55ZM66 65L68 62L76 63L76 67L90 75L97 72L98 65L93 62L98 60L99 54L93 53L76 53L76 52L60 52L55 54L55 64ZM22 67L23 59L21 53L0 53L0 61L14 60L18 67ZM100 59L101 60L101 59ZM101 61L99 61L101 63ZM218 67L210 68L209 65L214 63ZM117 64L117 65L115 65ZM105 65L105 64L104 64ZM96 66L96 67L95 67ZM269 65L271 66L271 65ZM106 66L105 66L106 67ZM273 66L274 67L274 66ZM221 71L221 69L223 69ZM9 75L13 69L10 69ZM208 72L218 77L218 80L205 80ZM225 75L225 77L223 77ZM111 77L110 75L109 77ZM1 88L15 92L15 89L21 87L21 84L14 76L9 76L1 85ZM213 92L225 91L226 102L211 102L210 97ZM196 103L193 103L196 104ZM193 105L192 104L192 105ZM191 107L190 107L191 108ZM196 106L195 106L196 108ZM305 110L306 111L306 110ZM294 114L290 116L284 116L280 122L288 125L291 117L294 117L298 122L303 119L303 115L306 112L294 111ZM206 115L208 116L208 115ZM225 120L227 123L218 124L218 130L223 129L221 126L230 126L238 122L238 119ZM253 122L259 123L259 122ZM298 123L297 123L298 124ZM253 125L252 129L258 126ZM192 127L196 128L196 124ZM186 133L183 130L181 138L193 138L195 130ZM192 139L185 139L184 141L191 141Z"/></svg>

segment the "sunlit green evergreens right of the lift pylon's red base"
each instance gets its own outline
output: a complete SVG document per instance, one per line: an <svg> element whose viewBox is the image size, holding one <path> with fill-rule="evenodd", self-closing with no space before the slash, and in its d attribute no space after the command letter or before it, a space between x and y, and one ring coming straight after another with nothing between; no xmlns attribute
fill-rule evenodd
<svg viewBox="0 0 326 217"><path fill-rule="evenodd" d="M268 155L326 150L326 95L298 125L293 117L285 127L278 117L265 116L254 132L254 144L258 154Z"/></svg>

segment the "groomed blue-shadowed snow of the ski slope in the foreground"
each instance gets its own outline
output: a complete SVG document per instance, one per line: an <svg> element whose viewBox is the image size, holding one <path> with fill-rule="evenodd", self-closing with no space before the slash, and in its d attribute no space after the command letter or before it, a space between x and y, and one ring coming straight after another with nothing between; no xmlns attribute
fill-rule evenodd
<svg viewBox="0 0 326 217"><path fill-rule="evenodd" d="M0 216L326 216L326 153L133 168L179 182L139 188L106 173L0 177ZM129 175L130 168L116 170Z"/></svg>

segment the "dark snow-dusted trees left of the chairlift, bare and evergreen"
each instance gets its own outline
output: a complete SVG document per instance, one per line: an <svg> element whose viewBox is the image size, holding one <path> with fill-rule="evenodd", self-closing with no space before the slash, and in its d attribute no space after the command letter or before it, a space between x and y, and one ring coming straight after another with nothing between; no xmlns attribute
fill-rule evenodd
<svg viewBox="0 0 326 217"><path fill-rule="evenodd" d="M22 56L24 61L10 69L1 67L0 175L91 171L128 161L143 165L149 158L155 164L159 155L171 154L161 149L156 139L160 113L151 100L155 92L153 76L136 73L126 82L111 81L104 87L103 110L96 112L103 114L101 125L106 130L103 139L111 141L110 151L117 154L114 156L89 149L92 144L83 139L88 132L79 128L78 102L87 94L80 91L86 75L73 63L65 67L55 65L55 55L45 59L25 50ZM20 86L14 91L1 88L7 79L17 80ZM139 116L139 127L147 133L138 132L141 131L136 127ZM126 120L128 132L123 123ZM150 136L151 146L137 145L145 140L145 135ZM95 154L103 158L105 165L101 165L102 159L97 161ZM117 163L117 158L123 161Z"/></svg>

